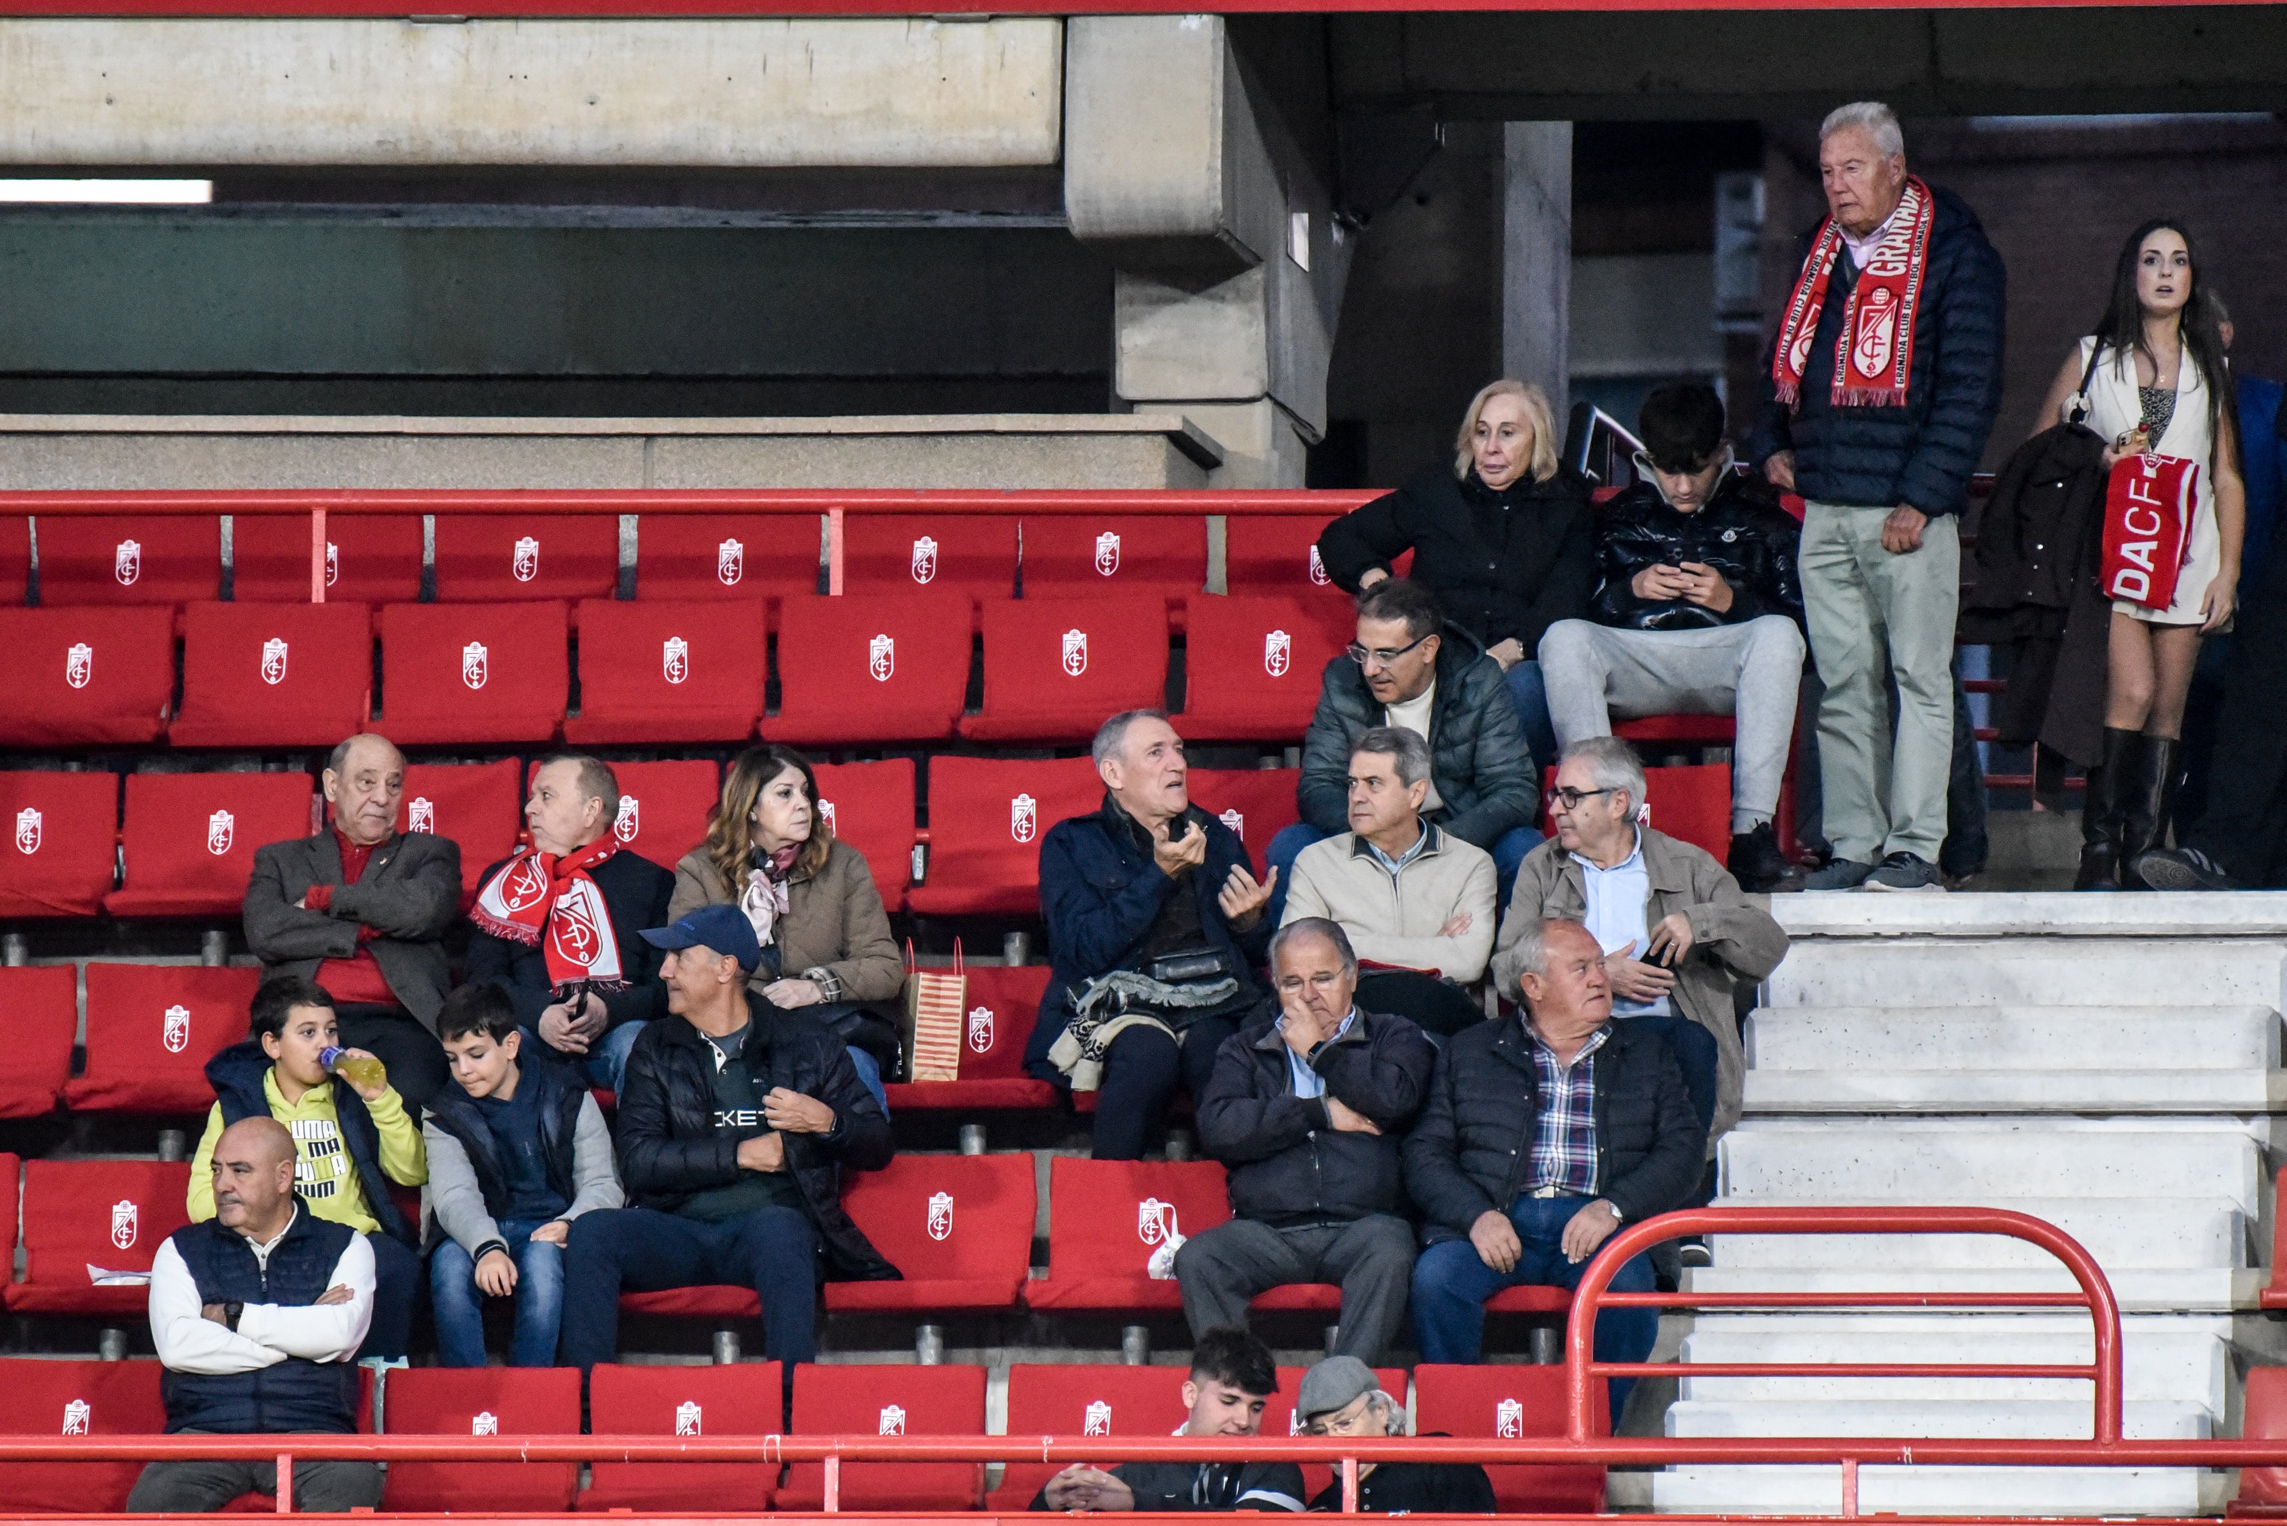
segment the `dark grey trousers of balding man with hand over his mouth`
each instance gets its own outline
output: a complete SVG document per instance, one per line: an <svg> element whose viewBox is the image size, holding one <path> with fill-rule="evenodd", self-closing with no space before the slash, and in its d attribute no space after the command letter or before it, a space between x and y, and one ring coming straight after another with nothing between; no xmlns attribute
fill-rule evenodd
<svg viewBox="0 0 2287 1526"><path fill-rule="evenodd" d="M1256 1293L1288 1282L1338 1282L1342 1334L1329 1355L1374 1366L1407 1320L1413 1227L1390 1213L1306 1229L1235 1218L1182 1243L1176 1279L1192 1339L1217 1325L1246 1325Z"/></svg>

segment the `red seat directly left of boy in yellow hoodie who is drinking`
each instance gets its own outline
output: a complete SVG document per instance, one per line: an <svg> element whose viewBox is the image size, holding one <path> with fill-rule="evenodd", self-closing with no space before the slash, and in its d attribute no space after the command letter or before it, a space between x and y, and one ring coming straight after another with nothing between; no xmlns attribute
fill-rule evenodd
<svg viewBox="0 0 2287 1526"><path fill-rule="evenodd" d="M263 971L252 964L87 964L87 1074L75 1113L206 1113L206 1062L247 1037Z"/></svg>

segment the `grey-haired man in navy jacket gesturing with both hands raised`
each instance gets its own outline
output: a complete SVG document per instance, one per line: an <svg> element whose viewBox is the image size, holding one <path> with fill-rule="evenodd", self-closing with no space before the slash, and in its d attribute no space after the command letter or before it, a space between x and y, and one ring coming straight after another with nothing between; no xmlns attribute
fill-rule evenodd
<svg viewBox="0 0 2287 1526"><path fill-rule="evenodd" d="M1098 1094L1098 1160L1141 1160L1176 1081L1205 1097L1217 1049L1262 996L1278 875L1258 882L1237 834L1192 804L1160 710L1114 715L1091 752L1102 809L1041 838L1050 978L1025 1069Z"/></svg>

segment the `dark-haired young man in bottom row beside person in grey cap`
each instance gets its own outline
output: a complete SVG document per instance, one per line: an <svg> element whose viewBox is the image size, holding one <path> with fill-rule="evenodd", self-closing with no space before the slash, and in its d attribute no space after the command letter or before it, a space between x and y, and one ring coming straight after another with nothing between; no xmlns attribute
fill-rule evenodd
<svg viewBox="0 0 2287 1526"><path fill-rule="evenodd" d="M1278 1364L1244 1327L1203 1330L1182 1382L1189 1419L1178 1437L1253 1437L1278 1391ZM1068 1467L1031 1501L1034 1510L1301 1510L1292 1462L1123 1462L1111 1471Z"/></svg>

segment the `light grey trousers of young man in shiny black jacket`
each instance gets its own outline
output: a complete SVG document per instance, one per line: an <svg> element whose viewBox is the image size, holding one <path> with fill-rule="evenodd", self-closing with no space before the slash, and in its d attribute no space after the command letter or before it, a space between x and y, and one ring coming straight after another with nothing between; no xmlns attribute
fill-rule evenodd
<svg viewBox="0 0 2287 1526"><path fill-rule="evenodd" d="M1763 615L1708 631L1621 631L1560 619L1541 635L1541 683L1557 745L1612 736L1612 717L1731 715L1731 832L1779 813L1802 690L1802 631Z"/></svg>

